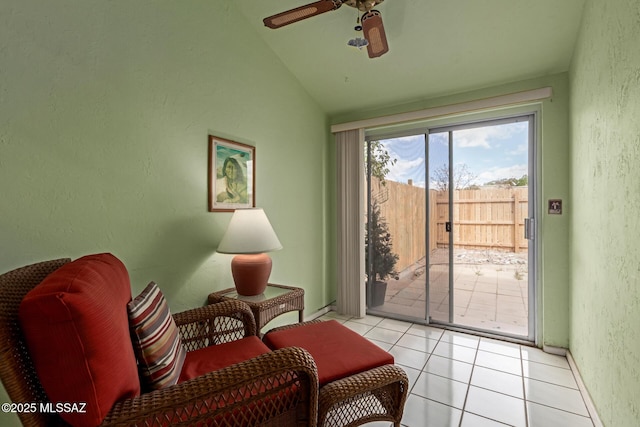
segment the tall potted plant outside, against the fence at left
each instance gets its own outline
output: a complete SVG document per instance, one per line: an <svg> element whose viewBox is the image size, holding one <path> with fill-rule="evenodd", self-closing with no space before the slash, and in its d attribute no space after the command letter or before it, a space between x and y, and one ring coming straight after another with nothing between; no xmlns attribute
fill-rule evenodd
<svg viewBox="0 0 640 427"><path fill-rule="evenodd" d="M391 233L387 223L380 215L380 206L374 202L371 206L369 223L365 234L365 262L368 266L368 283L371 305L384 304L387 292L387 278L397 279L395 271L398 255L391 250Z"/></svg>

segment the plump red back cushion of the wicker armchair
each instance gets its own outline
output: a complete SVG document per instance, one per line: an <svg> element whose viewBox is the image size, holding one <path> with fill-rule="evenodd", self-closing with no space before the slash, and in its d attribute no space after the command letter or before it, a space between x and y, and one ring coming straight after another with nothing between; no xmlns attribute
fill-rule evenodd
<svg viewBox="0 0 640 427"><path fill-rule="evenodd" d="M140 394L129 335L129 275L111 254L65 264L33 288L19 318L49 399L86 403L62 412L74 426L96 426L113 404Z"/></svg>

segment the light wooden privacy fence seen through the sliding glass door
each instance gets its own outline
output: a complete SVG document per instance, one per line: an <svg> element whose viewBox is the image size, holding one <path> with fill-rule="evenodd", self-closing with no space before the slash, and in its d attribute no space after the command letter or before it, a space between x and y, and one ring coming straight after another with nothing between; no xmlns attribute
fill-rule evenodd
<svg viewBox="0 0 640 427"><path fill-rule="evenodd" d="M398 254L397 271L426 256L424 244L427 213L424 188L387 181L372 184L372 201L380 206ZM449 193L429 190L431 212L429 251L449 247ZM453 194L454 248L524 252L524 219L528 211L528 187L456 190Z"/></svg>

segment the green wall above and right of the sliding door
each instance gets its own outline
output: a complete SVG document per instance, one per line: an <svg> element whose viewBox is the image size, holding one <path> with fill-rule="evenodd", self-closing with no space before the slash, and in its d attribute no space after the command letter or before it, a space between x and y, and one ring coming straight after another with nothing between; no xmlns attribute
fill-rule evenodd
<svg viewBox="0 0 640 427"><path fill-rule="evenodd" d="M538 318L541 345L568 347L569 344L569 216L546 215L548 199L569 198L569 81L561 73L536 79L504 84L441 98L394 105L349 115L331 117L332 124L417 111L550 86L553 97L532 109L539 109L538 138L538 209L539 263L538 292L542 309ZM523 110L519 110L522 112ZM464 120L464 119L461 119ZM565 207L565 211L567 208Z"/></svg>

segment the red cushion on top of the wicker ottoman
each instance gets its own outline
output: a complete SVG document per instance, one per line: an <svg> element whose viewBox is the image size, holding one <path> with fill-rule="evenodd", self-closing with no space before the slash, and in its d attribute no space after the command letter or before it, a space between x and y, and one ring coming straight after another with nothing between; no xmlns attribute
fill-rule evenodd
<svg viewBox="0 0 640 427"><path fill-rule="evenodd" d="M394 363L391 354L335 320L269 332L263 340L274 350L307 350L318 367L320 385Z"/></svg>

